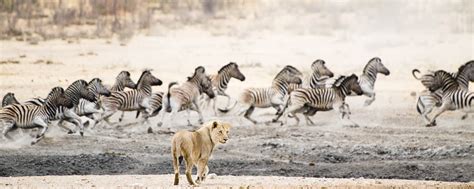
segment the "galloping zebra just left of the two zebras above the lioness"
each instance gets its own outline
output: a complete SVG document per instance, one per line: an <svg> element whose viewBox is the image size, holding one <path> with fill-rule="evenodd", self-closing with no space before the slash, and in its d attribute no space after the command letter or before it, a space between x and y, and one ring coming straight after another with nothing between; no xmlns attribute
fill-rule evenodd
<svg viewBox="0 0 474 189"><path fill-rule="evenodd" d="M104 113L102 119L110 124L108 118L118 110L121 111L136 111L140 109L147 109L149 99L152 94L152 86L159 86L163 82L153 76L151 70L142 72L137 82L136 89L130 91L116 91L110 97L102 99L102 108ZM151 112L146 112L150 114Z"/></svg>

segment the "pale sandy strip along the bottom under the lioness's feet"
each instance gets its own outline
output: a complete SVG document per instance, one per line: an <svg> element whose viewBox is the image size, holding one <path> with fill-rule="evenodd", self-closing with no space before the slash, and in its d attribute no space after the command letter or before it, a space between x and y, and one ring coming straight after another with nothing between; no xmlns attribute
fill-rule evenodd
<svg viewBox="0 0 474 189"><path fill-rule="evenodd" d="M0 178L0 187L47 188L62 185L64 188L181 188L170 181L174 175L118 175L118 176L46 176ZM184 176L181 179L185 179ZM384 179L327 179L278 176L216 176L207 180L202 188L472 188L474 183L410 181Z"/></svg>

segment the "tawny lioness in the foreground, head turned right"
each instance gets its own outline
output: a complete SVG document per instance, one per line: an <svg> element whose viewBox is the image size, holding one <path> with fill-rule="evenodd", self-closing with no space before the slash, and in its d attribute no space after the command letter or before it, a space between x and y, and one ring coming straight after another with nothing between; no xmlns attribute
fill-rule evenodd
<svg viewBox="0 0 474 189"><path fill-rule="evenodd" d="M200 184L209 173L207 161L212 150L218 143L226 143L229 140L229 123L211 121L205 123L197 131L179 131L171 141L171 153L173 156L174 185L179 183L179 163L186 161L186 178L189 184ZM197 179L193 182L191 172L193 165L197 166Z"/></svg>

